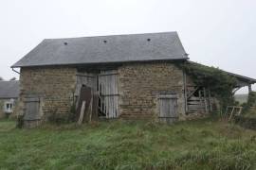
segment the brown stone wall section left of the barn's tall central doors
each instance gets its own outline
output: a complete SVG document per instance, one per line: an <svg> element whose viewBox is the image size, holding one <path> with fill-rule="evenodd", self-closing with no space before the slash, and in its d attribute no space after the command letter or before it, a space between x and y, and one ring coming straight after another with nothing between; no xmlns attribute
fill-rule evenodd
<svg viewBox="0 0 256 170"><path fill-rule="evenodd" d="M31 96L40 98L43 119L52 113L67 114L75 92L76 73L72 67L22 68L19 114L24 114L25 98Z"/></svg>

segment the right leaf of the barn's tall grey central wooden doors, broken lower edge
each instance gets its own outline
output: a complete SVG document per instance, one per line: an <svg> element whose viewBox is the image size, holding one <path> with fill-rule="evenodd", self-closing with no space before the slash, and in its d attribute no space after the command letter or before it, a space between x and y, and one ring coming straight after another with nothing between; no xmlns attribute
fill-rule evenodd
<svg viewBox="0 0 256 170"><path fill-rule="evenodd" d="M101 71L101 74L98 77L100 111L106 118L116 118L119 116L119 92L117 71Z"/></svg>

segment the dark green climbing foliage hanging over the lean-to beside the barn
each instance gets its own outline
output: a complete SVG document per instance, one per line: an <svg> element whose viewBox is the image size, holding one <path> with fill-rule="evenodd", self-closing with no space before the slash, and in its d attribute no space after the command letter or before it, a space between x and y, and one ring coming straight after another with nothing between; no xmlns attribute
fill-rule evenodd
<svg viewBox="0 0 256 170"><path fill-rule="evenodd" d="M205 87L219 99L222 107L234 104L233 89L237 79L229 76L228 73L215 68L201 65L198 63L186 63L184 70L192 76L193 82L199 87Z"/></svg>

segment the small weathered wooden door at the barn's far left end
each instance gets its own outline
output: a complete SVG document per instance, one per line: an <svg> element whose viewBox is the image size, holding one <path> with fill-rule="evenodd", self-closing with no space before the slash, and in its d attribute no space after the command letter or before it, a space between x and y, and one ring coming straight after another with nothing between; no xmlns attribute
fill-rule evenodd
<svg viewBox="0 0 256 170"><path fill-rule="evenodd" d="M25 99L25 115L24 120L34 121L40 120L40 100L38 97Z"/></svg>

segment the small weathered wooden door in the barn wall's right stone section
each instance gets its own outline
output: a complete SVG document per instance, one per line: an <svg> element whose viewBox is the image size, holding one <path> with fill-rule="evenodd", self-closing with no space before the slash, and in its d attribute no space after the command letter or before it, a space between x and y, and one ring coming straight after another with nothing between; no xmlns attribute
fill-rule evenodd
<svg viewBox="0 0 256 170"><path fill-rule="evenodd" d="M159 121L172 123L178 119L177 94L160 93L158 96Z"/></svg>

